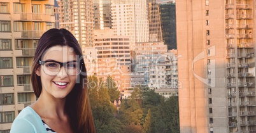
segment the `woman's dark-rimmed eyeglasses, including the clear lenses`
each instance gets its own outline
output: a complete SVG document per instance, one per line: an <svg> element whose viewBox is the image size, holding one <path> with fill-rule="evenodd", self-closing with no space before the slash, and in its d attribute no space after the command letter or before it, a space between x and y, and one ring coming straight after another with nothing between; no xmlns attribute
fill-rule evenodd
<svg viewBox="0 0 256 133"><path fill-rule="evenodd" d="M60 68L64 66L66 72L68 75L78 75L82 71L82 66L80 66L80 63L76 61L69 61L69 62L59 62L59 61L41 61L39 60L39 64L43 65L43 72L45 72L46 75L57 75L57 73L60 72ZM83 64L83 63L82 63Z"/></svg>

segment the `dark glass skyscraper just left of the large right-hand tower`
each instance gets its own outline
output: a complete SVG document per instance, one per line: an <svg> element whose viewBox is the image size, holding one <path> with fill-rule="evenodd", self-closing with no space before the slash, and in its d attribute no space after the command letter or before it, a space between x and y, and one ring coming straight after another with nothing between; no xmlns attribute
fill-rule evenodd
<svg viewBox="0 0 256 133"><path fill-rule="evenodd" d="M168 50L177 49L175 3L159 3L162 38Z"/></svg>

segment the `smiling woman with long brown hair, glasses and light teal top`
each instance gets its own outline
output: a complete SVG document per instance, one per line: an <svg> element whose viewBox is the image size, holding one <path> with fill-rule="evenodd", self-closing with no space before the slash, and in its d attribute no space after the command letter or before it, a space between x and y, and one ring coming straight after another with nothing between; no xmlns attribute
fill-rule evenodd
<svg viewBox="0 0 256 133"><path fill-rule="evenodd" d="M38 101L19 113L11 132L96 132L85 79L82 50L71 32L45 32L31 74Z"/></svg>

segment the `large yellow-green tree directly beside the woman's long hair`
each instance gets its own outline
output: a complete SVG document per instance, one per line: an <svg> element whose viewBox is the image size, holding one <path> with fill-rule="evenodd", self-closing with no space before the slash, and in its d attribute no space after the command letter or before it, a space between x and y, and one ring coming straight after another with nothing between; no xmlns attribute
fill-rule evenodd
<svg viewBox="0 0 256 133"><path fill-rule="evenodd" d="M96 76L88 77L89 97L94 117L96 132L120 132L124 129L123 124L114 117L116 107L110 102L108 89L103 79Z"/></svg>

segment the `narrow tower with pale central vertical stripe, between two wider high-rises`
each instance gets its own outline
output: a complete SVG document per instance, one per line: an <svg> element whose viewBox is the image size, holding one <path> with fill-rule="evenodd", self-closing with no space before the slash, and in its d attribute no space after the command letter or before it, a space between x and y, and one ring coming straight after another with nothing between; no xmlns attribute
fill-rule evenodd
<svg viewBox="0 0 256 133"><path fill-rule="evenodd" d="M111 28L111 1L94 0L94 29Z"/></svg>

